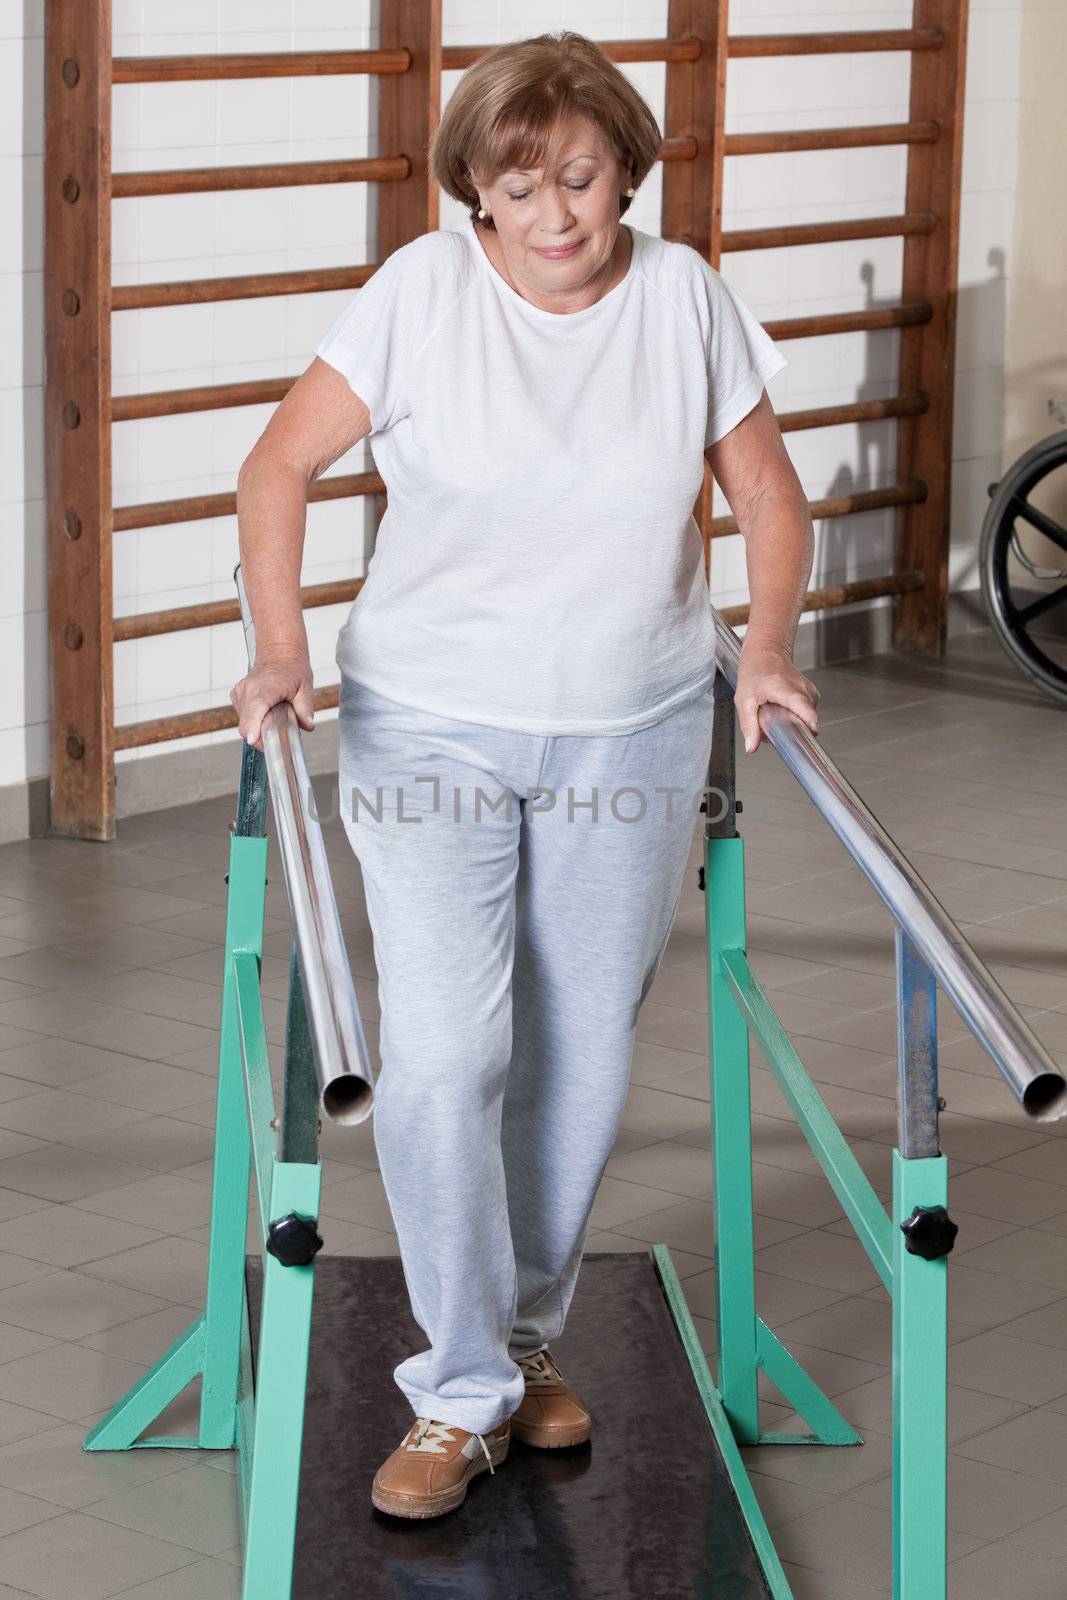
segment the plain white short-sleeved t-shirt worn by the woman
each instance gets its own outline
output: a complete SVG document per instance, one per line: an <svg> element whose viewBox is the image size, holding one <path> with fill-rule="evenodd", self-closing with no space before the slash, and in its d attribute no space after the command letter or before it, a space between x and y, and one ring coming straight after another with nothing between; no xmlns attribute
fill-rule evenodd
<svg viewBox="0 0 1067 1600"><path fill-rule="evenodd" d="M342 674L536 734L621 734L715 670L693 517L704 450L785 357L689 245L622 224L584 310L518 294L474 222L395 250L315 346L387 488Z"/></svg>

